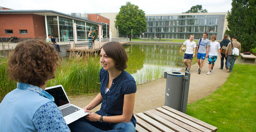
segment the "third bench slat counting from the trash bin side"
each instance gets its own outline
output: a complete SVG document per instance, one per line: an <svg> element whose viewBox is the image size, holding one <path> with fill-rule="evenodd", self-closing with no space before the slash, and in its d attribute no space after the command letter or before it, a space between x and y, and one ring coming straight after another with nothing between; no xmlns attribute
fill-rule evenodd
<svg viewBox="0 0 256 132"><path fill-rule="evenodd" d="M176 120L176 119L174 119L174 118L172 118L172 117L170 117L170 116L168 116L168 115L165 115L165 114L163 114L163 113L161 113L161 112L159 112L159 111L156 111L156 110L150 110L150 111L154 112L154 114L161 116L162 118L168 120L169 122L172 122L173 124L175 124L175 125L177 125L177 126L183 128L183 129L185 129L185 130L188 130L188 131L190 131L190 132L202 132L202 131L200 131L200 130L198 130L198 129L196 129L196 128L191 127L191 126L188 125L188 124L185 124L185 123L183 123L183 122L181 122L181 121L179 121L179 120ZM173 126L171 126L171 127L173 127ZM174 127L173 127L173 128L174 128ZM181 132L182 132L182 131L181 131Z"/></svg>

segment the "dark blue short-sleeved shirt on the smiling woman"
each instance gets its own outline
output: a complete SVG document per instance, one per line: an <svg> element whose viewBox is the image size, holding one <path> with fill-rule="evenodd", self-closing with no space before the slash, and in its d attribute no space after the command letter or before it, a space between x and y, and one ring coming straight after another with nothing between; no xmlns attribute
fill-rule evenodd
<svg viewBox="0 0 256 132"><path fill-rule="evenodd" d="M122 70L118 77L113 79L110 90L105 94L105 88L109 80L108 71L100 70L102 107L96 113L104 116L122 115L124 106L124 95L137 91L136 82L131 74ZM136 119L132 114L131 122L136 125Z"/></svg>

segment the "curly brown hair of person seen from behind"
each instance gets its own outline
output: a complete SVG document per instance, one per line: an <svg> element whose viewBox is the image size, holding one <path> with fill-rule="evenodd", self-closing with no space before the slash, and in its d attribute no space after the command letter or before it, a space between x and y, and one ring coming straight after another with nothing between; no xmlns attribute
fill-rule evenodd
<svg viewBox="0 0 256 132"><path fill-rule="evenodd" d="M54 70L61 60L53 46L40 39L29 39L19 43L9 54L7 71L17 82L40 87L55 76Z"/></svg>

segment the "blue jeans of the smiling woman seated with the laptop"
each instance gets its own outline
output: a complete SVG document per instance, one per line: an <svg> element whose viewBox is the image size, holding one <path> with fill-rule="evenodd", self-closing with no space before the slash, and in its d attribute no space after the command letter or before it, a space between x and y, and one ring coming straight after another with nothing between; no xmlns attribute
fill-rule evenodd
<svg viewBox="0 0 256 132"><path fill-rule="evenodd" d="M68 124L71 132L135 132L135 127L132 122L122 122L119 124L106 122L91 122L84 117ZM108 130L108 131L107 131Z"/></svg>

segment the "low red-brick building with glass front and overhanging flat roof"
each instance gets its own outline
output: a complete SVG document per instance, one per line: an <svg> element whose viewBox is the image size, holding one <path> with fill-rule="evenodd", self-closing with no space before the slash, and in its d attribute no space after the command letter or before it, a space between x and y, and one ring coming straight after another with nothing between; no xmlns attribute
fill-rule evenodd
<svg viewBox="0 0 256 132"><path fill-rule="evenodd" d="M95 29L101 35L102 23L81 17L71 16L52 10L0 10L0 38L18 37L46 38L55 35L57 41L69 39L88 39L90 30ZM103 28L104 29L104 28ZM106 32L106 31L105 31Z"/></svg>

